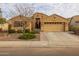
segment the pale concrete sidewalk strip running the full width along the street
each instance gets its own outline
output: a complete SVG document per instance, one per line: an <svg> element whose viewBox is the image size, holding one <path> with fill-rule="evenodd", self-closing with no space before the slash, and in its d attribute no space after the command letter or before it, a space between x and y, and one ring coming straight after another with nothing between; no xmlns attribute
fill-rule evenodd
<svg viewBox="0 0 79 59"><path fill-rule="evenodd" d="M79 42L73 44L69 43L65 44L62 42L48 42L48 41L0 41L0 48L10 47L10 48L61 48L61 47L79 47Z"/></svg>

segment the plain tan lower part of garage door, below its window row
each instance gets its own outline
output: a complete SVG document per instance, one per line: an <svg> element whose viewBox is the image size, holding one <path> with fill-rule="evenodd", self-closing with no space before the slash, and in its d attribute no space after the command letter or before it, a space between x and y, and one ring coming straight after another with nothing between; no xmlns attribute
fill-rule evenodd
<svg viewBox="0 0 79 59"><path fill-rule="evenodd" d="M46 24L42 27L43 31L64 31L63 24Z"/></svg>

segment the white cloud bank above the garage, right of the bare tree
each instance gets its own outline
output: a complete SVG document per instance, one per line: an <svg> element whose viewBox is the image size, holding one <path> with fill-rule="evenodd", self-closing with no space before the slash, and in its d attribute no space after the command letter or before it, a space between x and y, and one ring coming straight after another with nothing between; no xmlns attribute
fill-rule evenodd
<svg viewBox="0 0 79 59"><path fill-rule="evenodd" d="M40 8L41 10L38 10L38 11L44 12L48 15L59 14L66 18L72 17L74 15L79 15L79 4L78 3L40 4L40 5L37 5L37 8L39 8L40 6L43 6L43 7ZM44 10L43 8L46 10Z"/></svg>

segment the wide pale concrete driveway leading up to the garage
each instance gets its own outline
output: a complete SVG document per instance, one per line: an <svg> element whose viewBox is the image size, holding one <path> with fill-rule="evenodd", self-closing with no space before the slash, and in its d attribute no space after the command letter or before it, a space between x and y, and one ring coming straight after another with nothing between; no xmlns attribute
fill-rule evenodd
<svg viewBox="0 0 79 59"><path fill-rule="evenodd" d="M41 32L40 39L49 47L79 47L79 36L69 32Z"/></svg>

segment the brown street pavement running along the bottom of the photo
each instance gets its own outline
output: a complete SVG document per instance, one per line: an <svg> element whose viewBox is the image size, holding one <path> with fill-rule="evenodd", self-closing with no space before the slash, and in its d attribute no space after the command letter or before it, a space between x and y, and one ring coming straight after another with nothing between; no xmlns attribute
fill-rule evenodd
<svg viewBox="0 0 79 59"><path fill-rule="evenodd" d="M0 56L79 56L79 48L0 48Z"/></svg>

